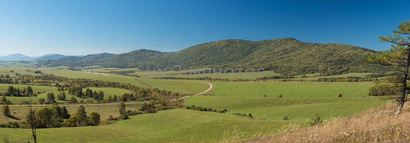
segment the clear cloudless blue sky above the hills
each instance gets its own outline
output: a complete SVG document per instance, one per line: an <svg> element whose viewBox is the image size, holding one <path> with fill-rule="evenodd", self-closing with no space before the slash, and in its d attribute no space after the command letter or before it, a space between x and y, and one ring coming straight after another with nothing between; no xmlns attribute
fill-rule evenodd
<svg viewBox="0 0 410 143"><path fill-rule="evenodd" d="M0 55L179 51L223 39L292 37L387 50L378 35L410 18L407 1L4 0Z"/></svg>

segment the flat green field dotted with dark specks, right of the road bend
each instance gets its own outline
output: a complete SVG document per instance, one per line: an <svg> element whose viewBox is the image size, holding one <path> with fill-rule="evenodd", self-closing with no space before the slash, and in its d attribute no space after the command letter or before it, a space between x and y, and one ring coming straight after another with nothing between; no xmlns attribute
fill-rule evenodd
<svg viewBox="0 0 410 143"><path fill-rule="evenodd" d="M210 82L208 94L241 97L343 97L367 96L373 82Z"/></svg>

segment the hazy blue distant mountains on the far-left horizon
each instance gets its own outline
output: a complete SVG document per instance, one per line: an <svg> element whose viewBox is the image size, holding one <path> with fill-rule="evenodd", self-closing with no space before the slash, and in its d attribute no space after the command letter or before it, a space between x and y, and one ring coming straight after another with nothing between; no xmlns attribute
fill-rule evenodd
<svg viewBox="0 0 410 143"><path fill-rule="evenodd" d="M41 61L41 60L48 60L48 59L61 59L63 57L67 57L66 55L62 54L45 54L39 57L29 57L24 54L9 54L7 56L0 56L0 61ZM82 56L72 56L72 57L82 57Z"/></svg>

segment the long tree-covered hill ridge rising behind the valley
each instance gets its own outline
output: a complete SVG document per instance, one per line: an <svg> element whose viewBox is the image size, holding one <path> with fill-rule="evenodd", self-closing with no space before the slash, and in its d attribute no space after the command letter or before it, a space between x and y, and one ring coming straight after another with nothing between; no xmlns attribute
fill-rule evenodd
<svg viewBox="0 0 410 143"><path fill-rule="evenodd" d="M70 67L100 65L139 69L170 68L175 65L192 68L265 68L282 75L309 73L336 75L391 71L391 68L362 62L362 57L376 52L352 45L305 43L292 38L263 41L227 39L194 45L178 52L141 49L97 60L46 60L39 62L38 65Z"/></svg>

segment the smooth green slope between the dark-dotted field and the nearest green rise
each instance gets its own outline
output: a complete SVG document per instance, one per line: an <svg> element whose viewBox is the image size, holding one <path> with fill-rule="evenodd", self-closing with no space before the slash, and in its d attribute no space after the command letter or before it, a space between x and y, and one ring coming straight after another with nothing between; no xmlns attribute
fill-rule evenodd
<svg viewBox="0 0 410 143"><path fill-rule="evenodd" d="M322 118L348 117L357 111L380 107L386 103L378 101L377 97L263 98L194 95L185 98L184 104L252 113L255 118L282 120L283 116L288 116L291 120L304 121L310 120L315 113Z"/></svg>

